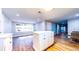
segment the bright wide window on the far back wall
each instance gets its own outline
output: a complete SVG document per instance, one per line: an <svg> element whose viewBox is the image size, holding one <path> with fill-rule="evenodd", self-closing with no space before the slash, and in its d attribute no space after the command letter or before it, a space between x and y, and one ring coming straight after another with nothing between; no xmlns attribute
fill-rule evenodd
<svg viewBox="0 0 79 59"><path fill-rule="evenodd" d="M16 32L33 31L33 24L16 24Z"/></svg>

